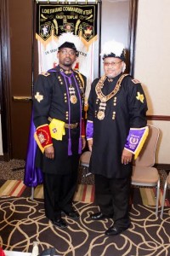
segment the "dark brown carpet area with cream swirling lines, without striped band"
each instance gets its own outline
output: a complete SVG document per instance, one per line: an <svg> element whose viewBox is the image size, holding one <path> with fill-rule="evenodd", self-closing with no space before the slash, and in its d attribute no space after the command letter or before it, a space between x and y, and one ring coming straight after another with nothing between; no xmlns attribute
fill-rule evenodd
<svg viewBox="0 0 170 256"><path fill-rule="evenodd" d="M69 224L59 230L44 216L43 201L24 197L0 198L0 244L5 250L31 252L38 241L42 252L55 247L62 256L143 256L170 255L170 208L164 218L156 218L155 207L132 205L131 227L120 236L105 236L111 219L92 221L89 214L97 211L93 203L75 202L81 218L65 217Z"/></svg>

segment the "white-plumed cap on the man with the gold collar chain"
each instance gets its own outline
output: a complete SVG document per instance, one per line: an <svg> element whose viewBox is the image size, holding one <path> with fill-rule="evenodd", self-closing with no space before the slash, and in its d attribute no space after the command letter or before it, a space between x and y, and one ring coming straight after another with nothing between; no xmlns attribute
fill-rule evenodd
<svg viewBox="0 0 170 256"><path fill-rule="evenodd" d="M104 44L100 55L103 60L107 57L115 57L125 61L125 54L126 50L124 45L115 40L111 40Z"/></svg>

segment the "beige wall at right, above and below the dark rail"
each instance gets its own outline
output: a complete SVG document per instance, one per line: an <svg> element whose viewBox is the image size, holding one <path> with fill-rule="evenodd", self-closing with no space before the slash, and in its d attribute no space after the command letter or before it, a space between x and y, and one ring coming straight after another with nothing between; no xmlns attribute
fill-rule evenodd
<svg viewBox="0 0 170 256"><path fill-rule="evenodd" d="M149 115L170 116L169 14L169 0L139 0L134 76L144 86ZM156 162L170 164L170 121L149 123L161 130Z"/></svg>

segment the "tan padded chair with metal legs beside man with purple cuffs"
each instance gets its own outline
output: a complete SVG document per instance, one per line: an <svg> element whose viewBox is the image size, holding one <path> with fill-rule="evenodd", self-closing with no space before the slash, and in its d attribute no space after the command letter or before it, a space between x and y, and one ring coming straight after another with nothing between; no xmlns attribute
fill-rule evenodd
<svg viewBox="0 0 170 256"><path fill-rule="evenodd" d="M146 138L137 160L133 161L132 185L139 187L156 187L156 217L158 216L160 176L155 167L156 147L160 130L154 125L149 126Z"/></svg>

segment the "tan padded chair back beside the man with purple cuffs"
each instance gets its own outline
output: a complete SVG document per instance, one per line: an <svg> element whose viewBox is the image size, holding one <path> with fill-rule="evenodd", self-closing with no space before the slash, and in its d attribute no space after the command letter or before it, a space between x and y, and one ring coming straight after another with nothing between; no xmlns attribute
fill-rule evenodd
<svg viewBox="0 0 170 256"><path fill-rule="evenodd" d="M133 166L150 167L155 165L156 147L160 135L160 130L154 125L149 126L149 135L145 140L139 156L133 160Z"/></svg>

